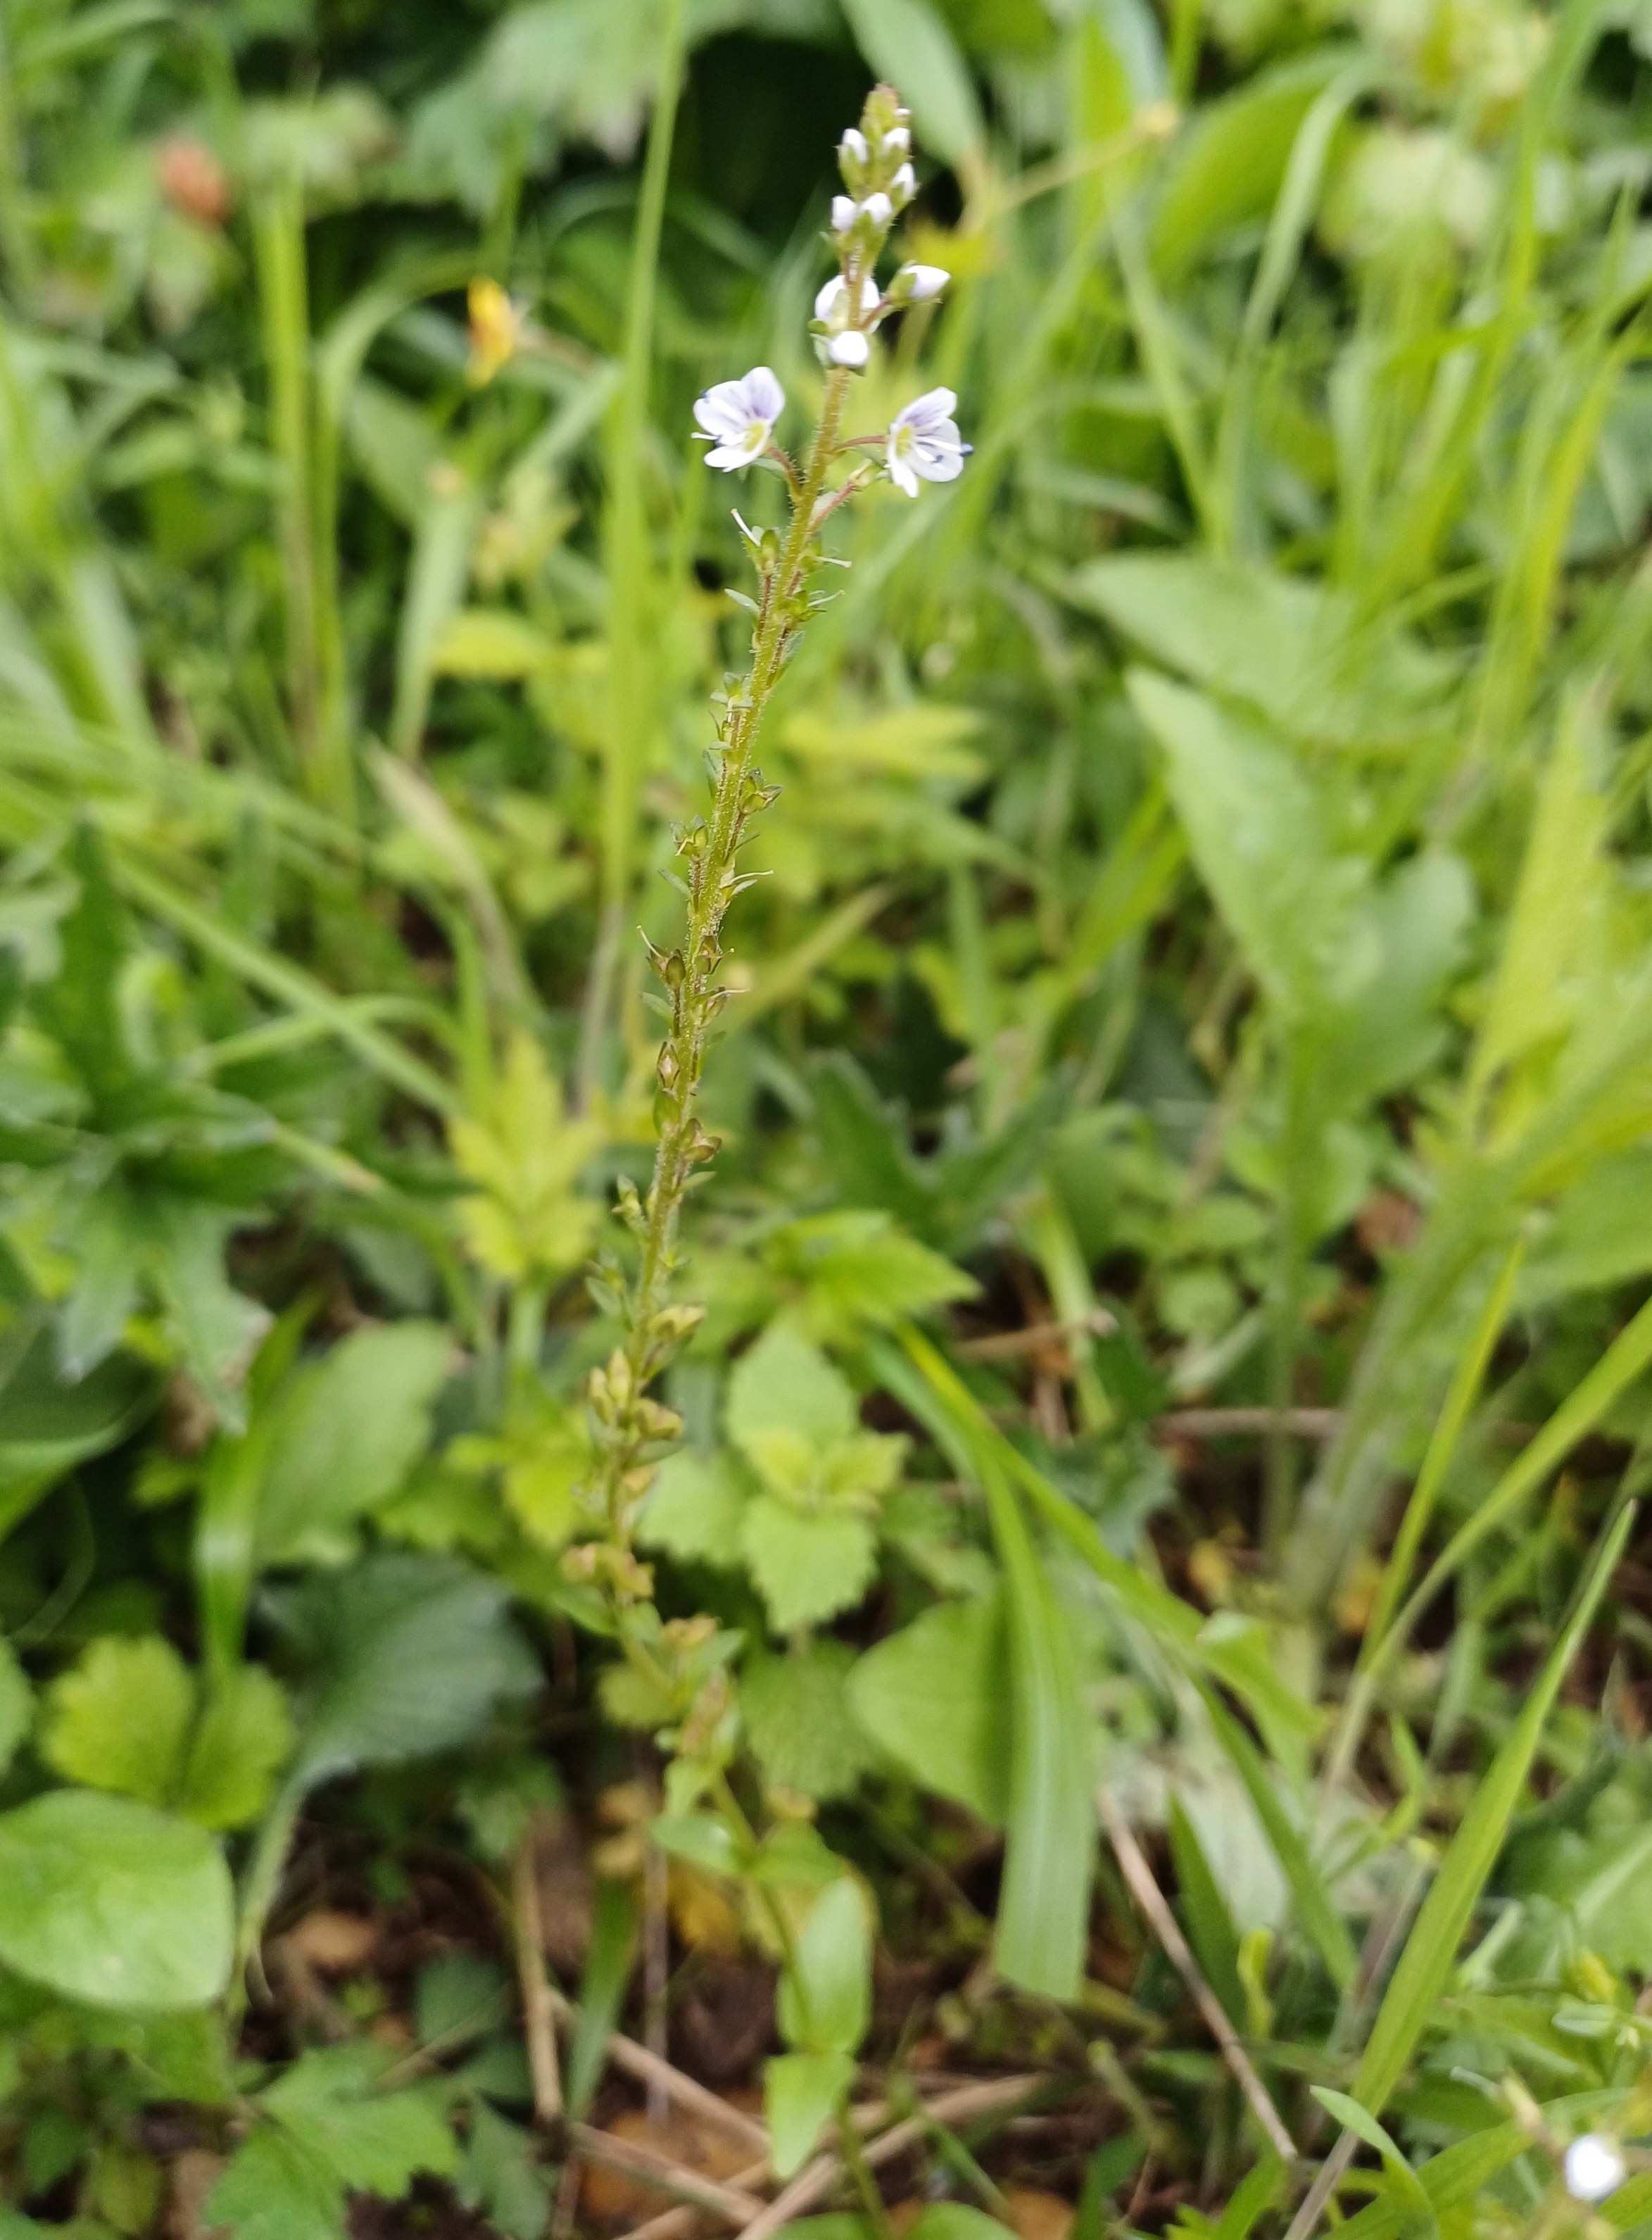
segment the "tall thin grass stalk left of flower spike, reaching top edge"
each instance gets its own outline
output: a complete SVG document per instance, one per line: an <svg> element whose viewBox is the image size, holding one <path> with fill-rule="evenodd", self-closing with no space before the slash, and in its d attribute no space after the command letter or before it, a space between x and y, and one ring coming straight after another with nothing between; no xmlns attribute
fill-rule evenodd
<svg viewBox="0 0 1652 2240"><path fill-rule="evenodd" d="M589 1104L602 1068L602 1044L613 1008L636 862L636 811L642 791L654 663L647 616L651 567L642 495L642 455L649 428L654 367L654 296L665 224L665 186L672 170L676 103L683 78L687 0L667 0L660 31L660 83L642 159L642 193L631 242L631 282L625 305L625 376L609 417L607 576L609 576L609 724L602 764L602 923L580 1024L580 1102Z"/></svg>

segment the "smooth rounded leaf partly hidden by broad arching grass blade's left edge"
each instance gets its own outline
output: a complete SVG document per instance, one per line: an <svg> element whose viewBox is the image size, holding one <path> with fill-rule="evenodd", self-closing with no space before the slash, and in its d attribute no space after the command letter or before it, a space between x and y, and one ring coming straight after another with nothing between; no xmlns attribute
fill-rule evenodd
<svg viewBox="0 0 1652 2240"><path fill-rule="evenodd" d="M940 1604L877 1642L848 1676L848 1702L913 1781L1003 1826L1012 1720L1001 1595Z"/></svg>

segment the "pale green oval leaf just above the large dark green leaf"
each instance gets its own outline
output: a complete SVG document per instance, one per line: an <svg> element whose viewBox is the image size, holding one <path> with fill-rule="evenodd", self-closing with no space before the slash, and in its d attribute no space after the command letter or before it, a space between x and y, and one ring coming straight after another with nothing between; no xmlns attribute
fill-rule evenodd
<svg viewBox="0 0 1652 2240"><path fill-rule="evenodd" d="M257 1550L264 1564L340 1561L356 1519L387 1501L430 1443L450 1340L432 1322L354 1331L273 1402Z"/></svg>

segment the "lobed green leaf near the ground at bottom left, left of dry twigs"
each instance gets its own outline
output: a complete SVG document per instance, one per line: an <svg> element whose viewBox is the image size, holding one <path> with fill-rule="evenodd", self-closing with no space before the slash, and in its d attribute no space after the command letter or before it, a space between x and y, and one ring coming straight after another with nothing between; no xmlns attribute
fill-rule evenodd
<svg viewBox="0 0 1652 2240"><path fill-rule="evenodd" d="M394 2054L376 2045L300 2054L264 2092L264 2110L351 2193L401 2200L421 2171L448 2177L459 2146L430 2085L378 2090L389 2068Z"/></svg>

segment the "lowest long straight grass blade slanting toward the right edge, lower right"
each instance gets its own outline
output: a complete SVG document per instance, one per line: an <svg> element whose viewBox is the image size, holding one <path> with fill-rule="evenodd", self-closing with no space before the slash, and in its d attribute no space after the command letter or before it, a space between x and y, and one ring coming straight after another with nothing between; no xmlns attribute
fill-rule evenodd
<svg viewBox="0 0 1652 2240"><path fill-rule="evenodd" d="M1486 1877L1498 1864L1509 1819L1520 1803L1542 1729L1560 1693L1560 1682L1571 1669L1571 1660L1583 1646L1601 1597L1612 1584L1612 1572L1632 1525L1634 1505L1623 1510L1596 1552L1576 1608L1560 1640L1545 1658L1536 1682L1527 1687L1520 1718L1509 1729L1489 1772L1475 1788L1421 1913L1412 1922L1354 2076L1352 2097L1372 2115L1381 2115L1395 2085L1406 2074L1406 2063L1428 2027L1439 1994L1451 1980L1451 1971L1457 1964L1457 1944L1486 1886Z"/></svg>

